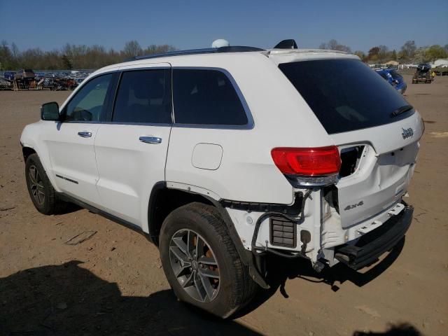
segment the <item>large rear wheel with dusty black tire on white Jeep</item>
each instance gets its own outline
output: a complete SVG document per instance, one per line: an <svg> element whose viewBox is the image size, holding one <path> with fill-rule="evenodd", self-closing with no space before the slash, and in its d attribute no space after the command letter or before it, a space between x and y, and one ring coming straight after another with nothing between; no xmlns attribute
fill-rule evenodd
<svg viewBox="0 0 448 336"><path fill-rule="evenodd" d="M183 248L179 247L182 245L180 237L183 239ZM197 255L193 254L194 251L181 253L189 250L185 244L186 237L193 237L189 240L193 242ZM179 300L221 318L228 318L255 295L258 286L249 276L248 267L241 262L237 248L216 208L202 203L179 207L163 222L159 238L162 267ZM205 247L198 249L197 246ZM204 257L208 260L207 265L201 263L201 260L205 260ZM191 267L188 267L188 260ZM218 281L202 274L218 274ZM205 290L206 286L208 291Z"/></svg>

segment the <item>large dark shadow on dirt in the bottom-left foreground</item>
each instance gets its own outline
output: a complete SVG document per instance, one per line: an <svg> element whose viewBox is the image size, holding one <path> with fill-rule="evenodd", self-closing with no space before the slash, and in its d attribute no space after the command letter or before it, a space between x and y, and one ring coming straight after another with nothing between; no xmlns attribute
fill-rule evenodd
<svg viewBox="0 0 448 336"><path fill-rule="evenodd" d="M259 335L177 302L172 290L120 293L80 261L0 278L0 335Z"/></svg>

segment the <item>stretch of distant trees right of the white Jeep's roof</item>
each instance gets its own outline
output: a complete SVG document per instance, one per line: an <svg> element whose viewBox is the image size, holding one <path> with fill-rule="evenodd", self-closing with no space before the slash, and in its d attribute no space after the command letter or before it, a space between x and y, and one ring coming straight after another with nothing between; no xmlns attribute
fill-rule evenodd
<svg viewBox="0 0 448 336"><path fill-rule="evenodd" d="M339 50L351 52L347 45L338 43L335 39L328 43L321 43L320 49ZM448 44L435 44L417 48L415 41L406 41L400 50L390 50L386 45L376 45L366 53L362 50L356 50L353 54L357 55L363 62L384 63L388 61L397 61L400 63L426 63L434 62L435 59L448 57Z"/></svg>

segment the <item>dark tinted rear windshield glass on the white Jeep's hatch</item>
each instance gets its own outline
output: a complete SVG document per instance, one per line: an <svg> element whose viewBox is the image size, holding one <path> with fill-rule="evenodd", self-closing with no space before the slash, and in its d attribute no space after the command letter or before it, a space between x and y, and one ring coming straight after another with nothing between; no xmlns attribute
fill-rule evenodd
<svg viewBox="0 0 448 336"><path fill-rule="evenodd" d="M322 59L279 64L329 134L360 130L407 118L391 117L408 105L401 94L363 62Z"/></svg>

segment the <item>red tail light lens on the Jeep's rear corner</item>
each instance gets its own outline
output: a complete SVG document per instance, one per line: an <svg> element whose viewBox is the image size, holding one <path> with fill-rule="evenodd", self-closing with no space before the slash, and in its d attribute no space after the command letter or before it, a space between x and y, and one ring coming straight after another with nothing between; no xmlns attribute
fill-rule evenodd
<svg viewBox="0 0 448 336"><path fill-rule="evenodd" d="M274 148L272 160L283 174L328 176L339 173L341 158L336 146L317 148Z"/></svg>

